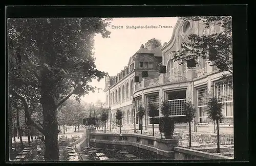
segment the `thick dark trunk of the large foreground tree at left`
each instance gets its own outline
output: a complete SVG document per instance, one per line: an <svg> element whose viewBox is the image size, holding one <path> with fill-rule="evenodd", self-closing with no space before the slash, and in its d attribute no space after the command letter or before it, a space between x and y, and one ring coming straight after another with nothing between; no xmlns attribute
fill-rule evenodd
<svg viewBox="0 0 256 166"><path fill-rule="evenodd" d="M44 77L42 77L44 78ZM52 85L49 84L48 79L42 80L41 86L41 104L44 116L44 133L45 133L45 154L46 161L59 160L59 144L58 144L58 121L57 121L57 107L53 96L51 95Z"/></svg>

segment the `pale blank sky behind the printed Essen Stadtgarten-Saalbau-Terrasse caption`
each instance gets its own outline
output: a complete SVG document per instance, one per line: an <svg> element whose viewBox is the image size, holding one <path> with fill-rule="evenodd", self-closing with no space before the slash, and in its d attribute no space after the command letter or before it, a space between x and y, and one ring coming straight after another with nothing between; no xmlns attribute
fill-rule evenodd
<svg viewBox="0 0 256 166"><path fill-rule="evenodd" d="M113 18L107 30L111 32L110 38L102 38L100 34L95 36L94 57L96 68L100 71L108 72L110 76L117 75L124 66L127 66L130 57L140 49L141 44L152 39L159 39L162 44L169 42L173 35L177 17L158 17L158 18ZM154 26L154 28L134 29L127 26ZM162 27L159 27L161 25ZM115 26L122 26L115 29ZM157 26L157 27L156 27ZM171 27L172 26L172 27ZM105 88L105 80L99 82L93 80L90 85L97 88ZM81 97L83 102L91 103L101 100L105 102L105 93L90 92Z"/></svg>

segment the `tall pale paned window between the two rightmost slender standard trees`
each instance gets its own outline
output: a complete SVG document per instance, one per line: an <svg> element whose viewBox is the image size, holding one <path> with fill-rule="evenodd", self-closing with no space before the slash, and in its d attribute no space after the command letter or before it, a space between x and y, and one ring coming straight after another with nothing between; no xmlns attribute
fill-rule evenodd
<svg viewBox="0 0 256 166"><path fill-rule="evenodd" d="M207 115L207 111L206 111L207 98L208 98L207 94L208 94L207 87L197 90L197 105L198 105L198 113L199 113L200 123L208 122L208 115Z"/></svg>

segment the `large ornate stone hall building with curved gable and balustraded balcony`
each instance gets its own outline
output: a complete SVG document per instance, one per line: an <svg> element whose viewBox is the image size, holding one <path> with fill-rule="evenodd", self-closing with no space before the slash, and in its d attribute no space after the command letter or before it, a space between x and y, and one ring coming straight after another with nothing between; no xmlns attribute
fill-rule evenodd
<svg viewBox="0 0 256 166"><path fill-rule="evenodd" d="M137 107L142 104L146 109L148 103L160 105L162 100L168 100L172 110L172 117L176 121L176 130L187 129L183 114L183 103L191 101L197 108L193 128L196 131L214 131L215 124L207 118L206 103L209 96L216 96L224 103L224 119L220 123L220 132L233 132L233 91L231 82L221 83L220 78L228 72L220 72L211 62L199 59L195 68L187 68L186 64L174 62L172 51L181 50L181 43L189 34L209 35L221 32L218 25L205 22L184 21L179 18L168 43L161 43L151 39L130 58L116 76L105 80L106 105L111 107L111 126L116 127L115 112L119 108L123 111L123 127L134 126L134 112L132 99L135 97L136 128L138 128ZM166 73L159 74L159 66L166 66ZM148 71L148 77L142 78L142 71ZM136 78L137 77L137 78ZM139 79L138 79L139 78ZM218 84L217 84L218 82ZM221 84L220 84L221 83ZM155 118L155 130L158 130L159 117ZM152 118L147 115L143 119L143 129L152 130Z"/></svg>

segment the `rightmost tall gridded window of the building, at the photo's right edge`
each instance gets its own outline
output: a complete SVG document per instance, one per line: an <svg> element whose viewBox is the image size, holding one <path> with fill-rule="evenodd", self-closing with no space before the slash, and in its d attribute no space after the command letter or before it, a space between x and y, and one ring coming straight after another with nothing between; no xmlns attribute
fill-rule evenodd
<svg viewBox="0 0 256 166"><path fill-rule="evenodd" d="M224 122L233 123L233 90L232 81L220 82L217 84L217 98L224 103L222 115L225 117Z"/></svg>

